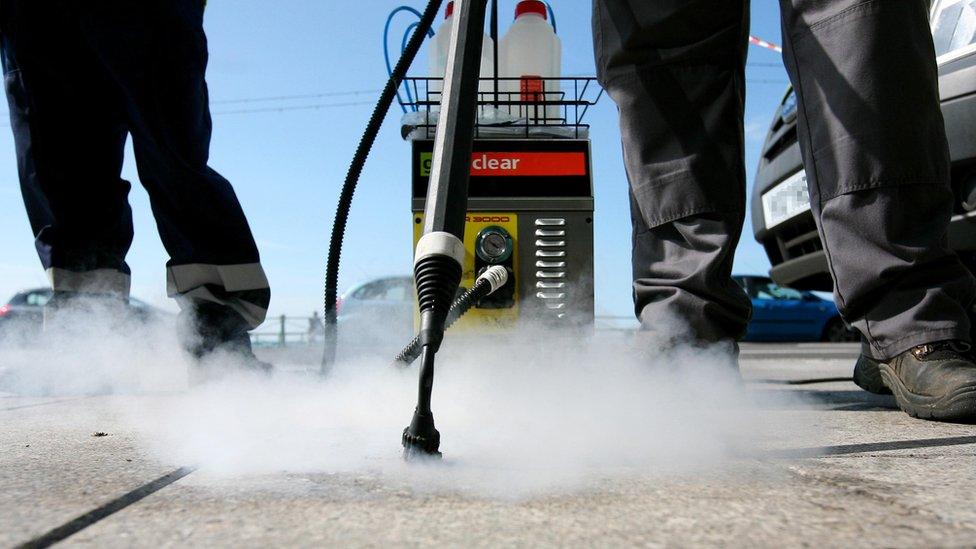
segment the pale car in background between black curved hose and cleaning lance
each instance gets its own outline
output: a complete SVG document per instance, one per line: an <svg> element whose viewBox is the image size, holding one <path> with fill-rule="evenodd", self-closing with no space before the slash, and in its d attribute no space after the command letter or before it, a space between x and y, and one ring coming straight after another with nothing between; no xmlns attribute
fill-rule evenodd
<svg viewBox="0 0 976 549"><path fill-rule="evenodd" d="M392 358L414 336L414 281L378 278L353 286L339 298L338 352Z"/></svg>

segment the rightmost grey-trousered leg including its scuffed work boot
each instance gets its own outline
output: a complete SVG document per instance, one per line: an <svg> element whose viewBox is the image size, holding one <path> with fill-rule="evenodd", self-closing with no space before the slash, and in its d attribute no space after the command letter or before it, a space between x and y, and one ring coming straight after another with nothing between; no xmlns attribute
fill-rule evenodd
<svg viewBox="0 0 976 549"><path fill-rule="evenodd" d="M899 394L889 383L906 411L976 417L976 368L962 354L976 281L946 238L952 191L925 3L781 6L810 201L841 314L885 382L912 386ZM945 341L956 343L931 345ZM932 398L920 408L912 393Z"/></svg>

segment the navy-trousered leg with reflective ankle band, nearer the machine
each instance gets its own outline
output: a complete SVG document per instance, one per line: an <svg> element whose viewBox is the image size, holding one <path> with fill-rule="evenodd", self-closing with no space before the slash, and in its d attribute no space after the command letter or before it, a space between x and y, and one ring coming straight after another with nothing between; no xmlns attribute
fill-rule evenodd
<svg viewBox="0 0 976 549"><path fill-rule="evenodd" d="M193 350L249 349L247 331L264 321L271 292L237 196L207 164L203 2L107 0L81 11L124 93L139 177L170 254L168 290L203 336Z"/></svg>

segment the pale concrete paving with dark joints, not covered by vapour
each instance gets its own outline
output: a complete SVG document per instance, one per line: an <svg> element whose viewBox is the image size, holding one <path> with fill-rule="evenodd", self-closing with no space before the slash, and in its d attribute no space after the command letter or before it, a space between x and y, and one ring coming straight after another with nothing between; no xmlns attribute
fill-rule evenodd
<svg viewBox="0 0 976 549"><path fill-rule="evenodd" d="M976 429L913 420L850 382L817 382L850 376L855 355L847 345L744 346L766 423L759 447L688 468L617 463L511 497L425 489L382 468L181 469L193 464L162 459L119 413L178 396L6 394L0 546L70 530L65 545L99 547L976 544Z"/></svg>

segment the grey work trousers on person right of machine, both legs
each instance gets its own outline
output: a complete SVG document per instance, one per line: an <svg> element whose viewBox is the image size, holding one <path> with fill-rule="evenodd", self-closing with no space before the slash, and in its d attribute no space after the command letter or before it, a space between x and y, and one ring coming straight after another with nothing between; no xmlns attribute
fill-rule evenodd
<svg viewBox="0 0 976 549"><path fill-rule="evenodd" d="M949 160L926 3L781 0L784 60L817 228L864 352L969 341L976 281L948 249ZM617 104L634 302L701 341L745 333L731 280L745 210L748 0L594 0L597 74Z"/></svg>

